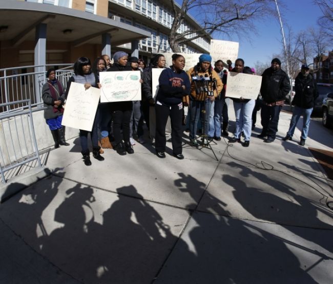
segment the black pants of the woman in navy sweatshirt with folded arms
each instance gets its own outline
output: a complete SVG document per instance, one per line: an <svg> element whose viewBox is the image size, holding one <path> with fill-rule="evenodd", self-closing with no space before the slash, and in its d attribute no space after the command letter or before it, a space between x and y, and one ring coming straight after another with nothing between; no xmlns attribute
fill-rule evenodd
<svg viewBox="0 0 333 284"><path fill-rule="evenodd" d="M182 153L181 135L182 135L182 104L172 107L155 104L156 111L156 134L155 134L155 150L157 152L165 152L165 126L168 117L171 119L171 142L172 150L175 155Z"/></svg>

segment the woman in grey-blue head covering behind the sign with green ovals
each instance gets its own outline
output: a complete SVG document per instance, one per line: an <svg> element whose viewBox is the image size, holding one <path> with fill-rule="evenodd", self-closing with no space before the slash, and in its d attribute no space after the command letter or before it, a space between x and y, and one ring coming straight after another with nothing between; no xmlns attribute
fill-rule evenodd
<svg viewBox="0 0 333 284"><path fill-rule="evenodd" d="M113 65L108 71L131 71L128 66L128 54L123 51L117 51L113 55ZM114 149L119 155L126 155L126 152L133 154L134 150L130 142L130 122L133 110L132 101L112 102L110 103L113 118ZM122 129L122 137L121 137ZM122 138L124 143L122 142Z"/></svg>

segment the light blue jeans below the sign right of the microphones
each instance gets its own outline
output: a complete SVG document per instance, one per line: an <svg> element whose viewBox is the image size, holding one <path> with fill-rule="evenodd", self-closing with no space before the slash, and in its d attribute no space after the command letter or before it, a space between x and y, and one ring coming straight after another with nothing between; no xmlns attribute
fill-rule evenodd
<svg viewBox="0 0 333 284"><path fill-rule="evenodd" d="M247 103L234 102L236 114L236 128L234 136L240 138L242 131L244 132L244 140L249 141L252 129L252 111L256 101L250 100Z"/></svg>

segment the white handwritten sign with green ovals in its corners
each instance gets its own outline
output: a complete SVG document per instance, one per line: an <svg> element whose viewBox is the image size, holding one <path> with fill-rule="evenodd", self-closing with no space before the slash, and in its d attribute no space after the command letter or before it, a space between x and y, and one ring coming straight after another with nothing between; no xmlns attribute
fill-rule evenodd
<svg viewBox="0 0 333 284"><path fill-rule="evenodd" d="M141 101L140 71L99 73L100 102Z"/></svg>

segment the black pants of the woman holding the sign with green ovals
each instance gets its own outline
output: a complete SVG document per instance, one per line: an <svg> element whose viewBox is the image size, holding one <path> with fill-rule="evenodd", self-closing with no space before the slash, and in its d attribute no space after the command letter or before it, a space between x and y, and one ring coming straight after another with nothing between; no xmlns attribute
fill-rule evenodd
<svg viewBox="0 0 333 284"><path fill-rule="evenodd" d="M111 103L113 119L113 135L115 145L123 138L125 143L130 142L130 122L133 110L132 101ZM122 137L121 137L122 129Z"/></svg>

